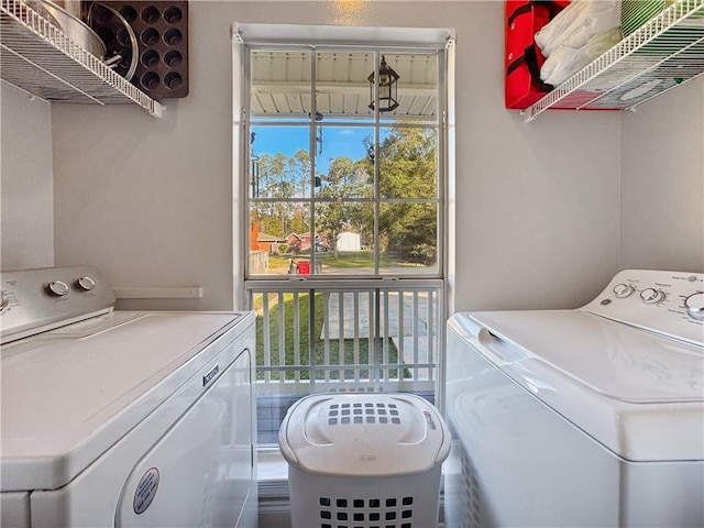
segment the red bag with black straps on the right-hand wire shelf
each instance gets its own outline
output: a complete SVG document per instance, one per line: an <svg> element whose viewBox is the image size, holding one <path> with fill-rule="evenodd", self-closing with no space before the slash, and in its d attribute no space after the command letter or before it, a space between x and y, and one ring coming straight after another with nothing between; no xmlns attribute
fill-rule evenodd
<svg viewBox="0 0 704 528"><path fill-rule="evenodd" d="M540 80L546 58L535 34L564 9L568 0L506 0L506 108L525 109L552 90Z"/></svg>

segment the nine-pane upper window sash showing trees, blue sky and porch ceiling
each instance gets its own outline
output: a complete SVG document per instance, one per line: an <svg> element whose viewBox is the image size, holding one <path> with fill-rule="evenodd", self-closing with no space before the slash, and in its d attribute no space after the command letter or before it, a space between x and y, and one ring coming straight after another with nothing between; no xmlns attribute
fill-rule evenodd
<svg viewBox="0 0 704 528"><path fill-rule="evenodd" d="M250 65L248 275L439 276L438 53L253 50Z"/></svg>

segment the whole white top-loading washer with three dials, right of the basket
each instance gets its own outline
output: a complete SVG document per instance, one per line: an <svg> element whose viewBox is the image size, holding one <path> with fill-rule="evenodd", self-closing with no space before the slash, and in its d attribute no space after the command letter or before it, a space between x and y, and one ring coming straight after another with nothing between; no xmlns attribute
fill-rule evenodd
<svg viewBox="0 0 704 528"><path fill-rule="evenodd" d="M448 527L704 526L704 275L448 321Z"/></svg>

